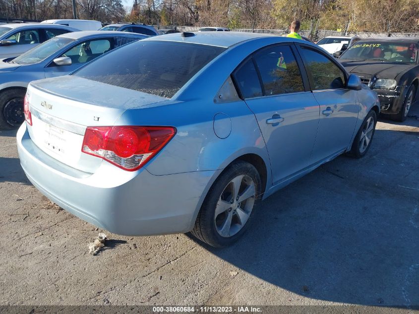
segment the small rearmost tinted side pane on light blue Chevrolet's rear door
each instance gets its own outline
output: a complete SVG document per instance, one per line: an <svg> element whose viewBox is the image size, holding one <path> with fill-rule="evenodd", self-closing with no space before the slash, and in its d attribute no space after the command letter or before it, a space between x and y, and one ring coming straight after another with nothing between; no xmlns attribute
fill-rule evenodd
<svg viewBox="0 0 419 314"><path fill-rule="evenodd" d="M262 96L262 87L252 59L247 60L236 70L234 78L243 98Z"/></svg>

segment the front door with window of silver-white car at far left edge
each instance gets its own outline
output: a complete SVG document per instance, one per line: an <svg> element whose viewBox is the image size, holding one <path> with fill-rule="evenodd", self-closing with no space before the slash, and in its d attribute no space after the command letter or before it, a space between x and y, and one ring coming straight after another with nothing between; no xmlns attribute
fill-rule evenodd
<svg viewBox="0 0 419 314"><path fill-rule="evenodd" d="M17 57L40 44L41 36L39 29L25 29L17 31L6 40L15 40L16 44L2 46L0 49L0 58Z"/></svg>

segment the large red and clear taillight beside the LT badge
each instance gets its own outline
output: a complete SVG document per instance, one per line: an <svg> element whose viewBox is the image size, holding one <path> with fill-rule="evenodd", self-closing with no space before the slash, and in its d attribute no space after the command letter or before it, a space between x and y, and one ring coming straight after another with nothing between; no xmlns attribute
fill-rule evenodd
<svg viewBox="0 0 419 314"><path fill-rule="evenodd" d="M128 171L140 169L176 134L171 126L89 126L81 151Z"/></svg>

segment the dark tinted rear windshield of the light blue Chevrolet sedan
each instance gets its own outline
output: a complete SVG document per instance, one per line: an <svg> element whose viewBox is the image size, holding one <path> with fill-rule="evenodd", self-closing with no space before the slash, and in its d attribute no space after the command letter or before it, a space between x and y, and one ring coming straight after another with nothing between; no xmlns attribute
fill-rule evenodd
<svg viewBox="0 0 419 314"><path fill-rule="evenodd" d="M138 41L82 67L74 75L171 98L226 48L169 41Z"/></svg>

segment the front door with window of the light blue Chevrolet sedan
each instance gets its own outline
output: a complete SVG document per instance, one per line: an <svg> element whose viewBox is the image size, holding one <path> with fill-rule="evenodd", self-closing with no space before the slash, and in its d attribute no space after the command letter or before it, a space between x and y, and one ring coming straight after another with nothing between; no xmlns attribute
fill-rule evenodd
<svg viewBox="0 0 419 314"><path fill-rule="evenodd" d="M313 95L320 105L320 119L310 163L341 153L351 143L358 120L357 91L347 88L347 73L332 57L298 45Z"/></svg>

